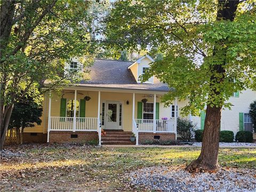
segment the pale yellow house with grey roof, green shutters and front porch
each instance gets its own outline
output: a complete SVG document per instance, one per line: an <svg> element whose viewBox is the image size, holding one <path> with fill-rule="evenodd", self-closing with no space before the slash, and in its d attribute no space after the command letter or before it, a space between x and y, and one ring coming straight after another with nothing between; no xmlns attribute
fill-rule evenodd
<svg viewBox="0 0 256 192"><path fill-rule="evenodd" d="M165 107L161 97L169 87L151 77L141 83L139 76L154 60L145 55L135 62L95 59L88 81L64 87L61 93L45 95L42 124L25 130L24 140L42 142L83 142L139 144L146 140L177 139L177 117L187 101L173 101ZM79 63L73 60L70 68ZM223 110L221 130L252 130L249 105L256 93L246 90L230 98L231 110ZM185 117L203 129L205 114ZM103 132L102 132L103 130ZM134 133L136 141L131 142Z"/></svg>

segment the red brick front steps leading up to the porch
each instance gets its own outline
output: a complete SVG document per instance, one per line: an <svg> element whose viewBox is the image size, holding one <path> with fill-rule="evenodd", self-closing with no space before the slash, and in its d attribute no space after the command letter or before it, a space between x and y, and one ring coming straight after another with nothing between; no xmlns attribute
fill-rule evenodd
<svg viewBox="0 0 256 192"><path fill-rule="evenodd" d="M106 131L105 135L101 136L102 145L135 145L131 142L132 132L130 131Z"/></svg>

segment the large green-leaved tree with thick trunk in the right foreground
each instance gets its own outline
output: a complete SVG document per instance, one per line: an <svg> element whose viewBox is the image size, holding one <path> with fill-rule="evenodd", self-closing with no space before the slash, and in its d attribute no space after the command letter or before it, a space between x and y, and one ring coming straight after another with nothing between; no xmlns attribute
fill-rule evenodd
<svg viewBox="0 0 256 192"><path fill-rule="evenodd" d="M115 46L164 54L141 78L173 87L165 105L188 99L184 115L206 106L201 154L189 171L218 169L221 110L234 92L256 87L255 12L255 1L141 0L115 2L107 18Z"/></svg>

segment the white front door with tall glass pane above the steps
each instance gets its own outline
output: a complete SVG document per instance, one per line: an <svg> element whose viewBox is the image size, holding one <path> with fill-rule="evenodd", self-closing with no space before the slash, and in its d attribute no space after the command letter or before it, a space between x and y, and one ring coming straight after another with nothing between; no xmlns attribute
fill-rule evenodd
<svg viewBox="0 0 256 192"><path fill-rule="evenodd" d="M106 129L117 130L119 125L119 102L108 101L106 110Z"/></svg>

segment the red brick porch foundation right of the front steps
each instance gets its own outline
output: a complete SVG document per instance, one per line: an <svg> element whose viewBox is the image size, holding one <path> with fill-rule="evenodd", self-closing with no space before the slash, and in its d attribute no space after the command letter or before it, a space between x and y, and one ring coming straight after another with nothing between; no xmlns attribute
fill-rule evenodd
<svg viewBox="0 0 256 192"><path fill-rule="evenodd" d="M159 141L167 141L167 140L175 140L175 133L139 133L139 144L145 141L154 141L158 139L154 139L154 136L159 136Z"/></svg>

